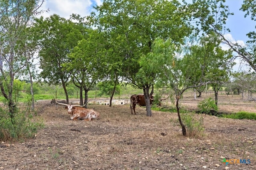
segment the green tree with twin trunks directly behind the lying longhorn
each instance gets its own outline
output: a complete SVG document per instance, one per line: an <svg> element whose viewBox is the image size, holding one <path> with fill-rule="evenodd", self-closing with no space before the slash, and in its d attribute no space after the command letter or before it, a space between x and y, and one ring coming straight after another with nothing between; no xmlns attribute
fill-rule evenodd
<svg viewBox="0 0 256 170"><path fill-rule="evenodd" d="M74 47L68 58L69 63L62 66L71 72L72 82L80 89L80 104L83 105L82 91L85 92L84 104L88 101L88 91L102 79L106 66L102 62L104 39L98 30L88 29L86 36ZM86 106L87 107L87 106Z"/></svg>

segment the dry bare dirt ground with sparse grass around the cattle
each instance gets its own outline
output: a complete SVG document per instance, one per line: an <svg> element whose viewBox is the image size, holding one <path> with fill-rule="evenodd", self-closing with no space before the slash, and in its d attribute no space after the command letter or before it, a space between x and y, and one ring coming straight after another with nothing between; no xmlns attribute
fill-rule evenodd
<svg viewBox="0 0 256 170"><path fill-rule="evenodd" d="M181 105L196 108L203 98L184 97ZM153 116L146 117L145 107L137 106L137 115L131 115L129 104L90 105L101 114L99 120L72 121L62 106L56 110L48 102L36 105L45 128L33 139L0 144L0 170L256 169L254 120L206 115L204 136L196 139L182 136L177 113L152 111ZM255 102L240 96L219 96L219 108L256 113ZM225 166L223 158L250 159L250 164L231 161Z"/></svg>

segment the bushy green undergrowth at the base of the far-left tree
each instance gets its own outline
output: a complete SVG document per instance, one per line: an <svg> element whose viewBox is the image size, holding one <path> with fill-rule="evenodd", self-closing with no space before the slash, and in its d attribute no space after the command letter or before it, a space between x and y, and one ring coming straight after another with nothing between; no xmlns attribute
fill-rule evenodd
<svg viewBox="0 0 256 170"><path fill-rule="evenodd" d="M0 107L0 140L22 141L32 138L39 127L43 127L42 121L32 121L33 115L30 111L18 111L11 120L7 110Z"/></svg>

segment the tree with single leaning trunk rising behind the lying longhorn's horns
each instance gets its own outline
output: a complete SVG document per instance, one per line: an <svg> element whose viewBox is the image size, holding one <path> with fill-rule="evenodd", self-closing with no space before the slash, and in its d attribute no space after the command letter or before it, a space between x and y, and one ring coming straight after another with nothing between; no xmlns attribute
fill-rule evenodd
<svg viewBox="0 0 256 170"><path fill-rule="evenodd" d="M68 102L66 85L71 73L63 69L62 64L71 62L67 55L82 39L80 25L54 14L46 19L36 19L35 27L41 46L40 77L48 84L62 84Z"/></svg>

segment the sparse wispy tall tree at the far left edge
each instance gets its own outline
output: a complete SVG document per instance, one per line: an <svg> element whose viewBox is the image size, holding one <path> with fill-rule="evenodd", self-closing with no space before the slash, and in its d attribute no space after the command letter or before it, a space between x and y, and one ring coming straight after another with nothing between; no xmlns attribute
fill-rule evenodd
<svg viewBox="0 0 256 170"><path fill-rule="evenodd" d="M26 35L24 31L28 23L32 21L34 15L38 14L38 8L42 2L40 0L0 1L0 89L8 101L12 119L17 111L12 96L14 79L20 70L26 67L23 56L20 56L20 51L17 51L18 46Z"/></svg>

